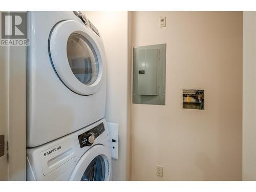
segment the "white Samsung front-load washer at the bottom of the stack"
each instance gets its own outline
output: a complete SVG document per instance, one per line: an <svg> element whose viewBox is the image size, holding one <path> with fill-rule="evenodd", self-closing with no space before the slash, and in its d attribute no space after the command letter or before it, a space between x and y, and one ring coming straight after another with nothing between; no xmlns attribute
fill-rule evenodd
<svg viewBox="0 0 256 192"><path fill-rule="evenodd" d="M105 119L27 149L28 181L109 181L110 135Z"/></svg>

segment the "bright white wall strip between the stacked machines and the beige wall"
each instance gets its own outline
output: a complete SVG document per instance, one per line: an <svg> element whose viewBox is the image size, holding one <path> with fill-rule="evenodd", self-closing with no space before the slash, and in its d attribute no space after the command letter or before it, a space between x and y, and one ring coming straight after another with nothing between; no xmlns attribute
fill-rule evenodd
<svg viewBox="0 0 256 192"><path fill-rule="evenodd" d="M113 180L127 180L130 170L130 40L129 13L84 12L102 35L107 58L105 118L119 124L119 159L113 160Z"/></svg>

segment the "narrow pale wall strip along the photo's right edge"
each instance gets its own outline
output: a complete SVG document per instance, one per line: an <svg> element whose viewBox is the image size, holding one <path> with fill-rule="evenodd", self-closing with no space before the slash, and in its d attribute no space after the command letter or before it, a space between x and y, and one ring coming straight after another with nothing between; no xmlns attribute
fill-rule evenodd
<svg viewBox="0 0 256 192"><path fill-rule="evenodd" d="M256 180L256 12L243 14L243 180Z"/></svg>

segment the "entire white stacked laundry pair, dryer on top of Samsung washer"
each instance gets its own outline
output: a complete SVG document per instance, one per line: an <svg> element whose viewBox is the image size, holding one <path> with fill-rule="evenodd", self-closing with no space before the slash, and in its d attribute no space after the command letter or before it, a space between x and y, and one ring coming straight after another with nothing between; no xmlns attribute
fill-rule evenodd
<svg viewBox="0 0 256 192"><path fill-rule="evenodd" d="M27 180L107 181L106 60L82 12L28 12Z"/></svg>

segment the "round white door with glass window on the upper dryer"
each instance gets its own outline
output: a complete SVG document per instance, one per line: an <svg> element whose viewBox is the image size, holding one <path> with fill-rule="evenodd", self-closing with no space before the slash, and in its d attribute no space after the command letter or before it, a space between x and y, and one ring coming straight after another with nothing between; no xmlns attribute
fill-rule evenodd
<svg viewBox="0 0 256 192"><path fill-rule="evenodd" d="M97 92L104 72L104 49L100 37L75 20L58 23L48 42L52 66L60 80L73 92Z"/></svg>

